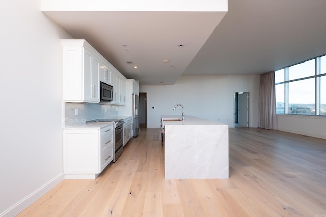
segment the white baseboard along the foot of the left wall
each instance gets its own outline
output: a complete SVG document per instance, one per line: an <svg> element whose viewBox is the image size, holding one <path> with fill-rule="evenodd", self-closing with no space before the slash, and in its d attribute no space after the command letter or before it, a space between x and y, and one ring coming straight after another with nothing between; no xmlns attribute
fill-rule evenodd
<svg viewBox="0 0 326 217"><path fill-rule="evenodd" d="M43 184L40 188L36 191L32 192L30 195L24 197L16 204L11 206L9 209L5 210L4 212L0 213L0 217L2 216L16 216L27 207L32 205L35 201L45 195L48 191L54 188L57 184L64 180L64 174L59 174L58 176L52 178L47 183Z"/></svg>

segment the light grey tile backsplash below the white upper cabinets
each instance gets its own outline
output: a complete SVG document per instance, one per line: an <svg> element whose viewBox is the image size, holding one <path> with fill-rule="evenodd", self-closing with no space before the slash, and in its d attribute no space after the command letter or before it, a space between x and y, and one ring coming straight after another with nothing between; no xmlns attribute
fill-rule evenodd
<svg viewBox="0 0 326 217"><path fill-rule="evenodd" d="M115 118L117 116L118 106L116 105L65 103L65 127L80 125L89 120Z"/></svg>

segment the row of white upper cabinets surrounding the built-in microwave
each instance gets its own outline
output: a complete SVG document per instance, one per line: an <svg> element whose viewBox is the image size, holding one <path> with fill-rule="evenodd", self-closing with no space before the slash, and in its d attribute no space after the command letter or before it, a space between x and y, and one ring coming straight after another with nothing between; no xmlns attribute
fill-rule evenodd
<svg viewBox="0 0 326 217"><path fill-rule="evenodd" d="M100 102L100 81L113 86L114 100L126 104L126 78L83 39L60 40L63 46L63 98L65 102Z"/></svg>

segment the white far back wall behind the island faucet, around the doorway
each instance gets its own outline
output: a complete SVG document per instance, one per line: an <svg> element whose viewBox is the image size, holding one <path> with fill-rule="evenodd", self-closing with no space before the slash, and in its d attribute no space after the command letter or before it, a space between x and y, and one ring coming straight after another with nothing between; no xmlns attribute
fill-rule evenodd
<svg viewBox="0 0 326 217"><path fill-rule="evenodd" d="M161 115L185 115L220 121L234 127L233 94L249 92L249 126L258 126L258 89L260 75L194 76L183 75L174 85L140 85L147 93L147 127L158 128ZM154 107L154 108L152 108Z"/></svg>

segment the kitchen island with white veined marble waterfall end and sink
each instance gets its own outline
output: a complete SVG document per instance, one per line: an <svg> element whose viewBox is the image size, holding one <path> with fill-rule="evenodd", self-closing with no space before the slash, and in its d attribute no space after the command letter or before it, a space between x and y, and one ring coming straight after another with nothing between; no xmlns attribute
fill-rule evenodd
<svg viewBox="0 0 326 217"><path fill-rule="evenodd" d="M194 116L162 115L166 179L229 178L228 125Z"/></svg>

